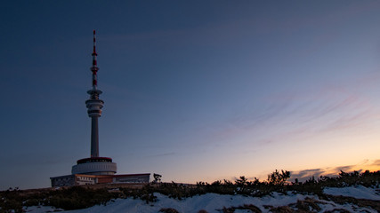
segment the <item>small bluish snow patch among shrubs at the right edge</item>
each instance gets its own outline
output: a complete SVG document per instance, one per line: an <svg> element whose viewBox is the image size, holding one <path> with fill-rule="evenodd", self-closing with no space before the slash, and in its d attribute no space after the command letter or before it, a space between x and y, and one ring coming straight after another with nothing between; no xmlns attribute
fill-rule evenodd
<svg viewBox="0 0 380 213"><path fill-rule="evenodd" d="M323 193L331 195L342 195L347 197L353 197L357 199L368 199L374 201L380 201L380 190L375 188L367 188L363 185L356 185L344 188L326 187Z"/></svg>

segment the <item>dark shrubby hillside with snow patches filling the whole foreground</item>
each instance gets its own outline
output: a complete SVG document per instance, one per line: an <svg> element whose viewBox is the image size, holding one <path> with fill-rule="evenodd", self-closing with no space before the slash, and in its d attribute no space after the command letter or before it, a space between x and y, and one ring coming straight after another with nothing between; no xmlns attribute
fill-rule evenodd
<svg viewBox="0 0 380 213"><path fill-rule="evenodd" d="M311 177L287 183L287 171L267 181L240 177L197 185L87 187L1 192L0 212L379 212L380 171ZM65 209L65 210L64 210Z"/></svg>

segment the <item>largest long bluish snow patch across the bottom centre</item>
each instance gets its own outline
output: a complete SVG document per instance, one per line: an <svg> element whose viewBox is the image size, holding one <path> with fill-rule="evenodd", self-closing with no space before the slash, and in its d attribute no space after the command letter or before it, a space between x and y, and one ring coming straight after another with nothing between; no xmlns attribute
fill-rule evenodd
<svg viewBox="0 0 380 213"><path fill-rule="evenodd" d="M115 202L110 202L107 206L99 205L93 206L88 209L78 209L70 211L62 211L65 213L117 213L117 212L131 212L131 213L150 213L158 212L159 209L173 208L179 212L198 212L201 209L206 210L209 213L218 213L223 207L239 207L244 204L253 204L263 212L267 212L268 209L264 209L263 205L271 205L274 207L286 206L290 203L295 203L298 199L303 200L306 196L302 194L292 195L280 195L279 193L273 193L271 196L248 197L243 195L223 195L216 193L206 193L203 195L193 196L192 198L183 199L178 201L168 198L166 195L155 193L158 197L158 201L147 204L145 201L139 199L117 199ZM309 196L310 197L310 196ZM46 212L40 211L29 212ZM52 211L52 209L47 209ZM238 210L238 209L237 209ZM240 212L247 212L239 209ZM238 212L239 212L238 211Z"/></svg>

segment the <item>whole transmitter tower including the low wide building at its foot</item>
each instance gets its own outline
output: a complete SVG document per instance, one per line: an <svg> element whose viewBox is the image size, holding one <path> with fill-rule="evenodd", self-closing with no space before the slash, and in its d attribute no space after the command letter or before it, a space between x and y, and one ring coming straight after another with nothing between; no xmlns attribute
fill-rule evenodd
<svg viewBox="0 0 380 213"><path fill-rule="evenodd" d="M101 109L104 101L100 99L101 90L98 90L98 61L96 52L96 37L93 30L93 66L90 70L93 75L92 89L87 91L90 98L85 101L87 114L91 118L91 152L90 157L77 160L77 165L71 168L71 175L50 177L52 186L64 185L94 185L94 184L128 184L149 183L150 173L119 174L116 175L117 165L109 157L101 157L99 154L99 126ZM159 179L158 174L154 178Z"/></svg>

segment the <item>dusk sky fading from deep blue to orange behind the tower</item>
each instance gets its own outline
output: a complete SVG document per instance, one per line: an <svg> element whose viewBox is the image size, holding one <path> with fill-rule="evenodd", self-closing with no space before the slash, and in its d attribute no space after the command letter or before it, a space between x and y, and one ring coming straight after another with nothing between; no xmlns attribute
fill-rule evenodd
<svg viewBox="0 0 380 213"><path fill-rule="evenodd" d="M100 154L164 181L380 170L379 1L5 1L0 189Z"/></svg>

